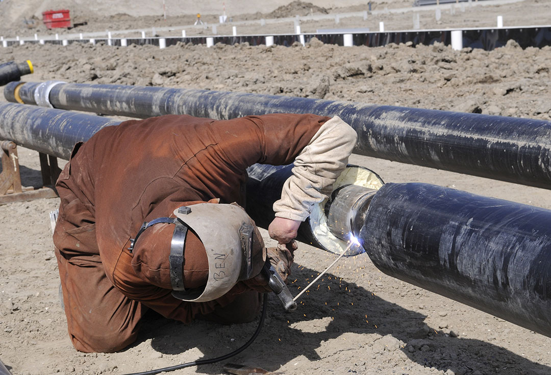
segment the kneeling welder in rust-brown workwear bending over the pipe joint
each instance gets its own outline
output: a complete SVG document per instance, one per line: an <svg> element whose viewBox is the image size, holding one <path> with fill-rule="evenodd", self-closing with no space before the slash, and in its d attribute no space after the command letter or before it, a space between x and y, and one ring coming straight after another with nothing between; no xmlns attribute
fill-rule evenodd
<svg viewBox="0 0 551 375"><path fill-rule="evenodd" d="M266 259L289 275L300 222L331 192L355 142L338 117L168 115L75 145L56 184L53 235L74 347L123 349L148 309L184 323L255 319L269 291ZM294 164L268 229L278 246L268 249L241 208L255 163Z"/></svg>

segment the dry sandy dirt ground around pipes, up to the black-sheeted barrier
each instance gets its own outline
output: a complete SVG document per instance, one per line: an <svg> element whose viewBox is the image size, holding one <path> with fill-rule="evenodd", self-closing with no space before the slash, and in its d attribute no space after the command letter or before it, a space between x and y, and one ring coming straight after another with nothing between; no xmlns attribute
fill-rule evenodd
<svg viewBox="0 0 551 375"><path fill-rule="evenodd" d="M538 3L533 1L532 3ZM437 110L551 119L551 48L510 43L492 52L435 46L213 48L24 45L28 81L160 85L323 97ZM23 183L40 185L35 151L19 149ZM549 191L353 155L387 182L426 182L551 209ZM123 374L236 349L256 322L183 325L150 314L138 340L115 354L83 354L68 339L48 213L58 199L0 206L0 360L13 374ZM267 239L266 232L263 232ZM268 243L269 240L267 241ZM295 295L332 260L301 244ZM551 339L382 274L362 254L343 258L297 311L277 298L255 343L225 362L286 374L550 374ZM220 374L222 364L177 374Z"/></svg>

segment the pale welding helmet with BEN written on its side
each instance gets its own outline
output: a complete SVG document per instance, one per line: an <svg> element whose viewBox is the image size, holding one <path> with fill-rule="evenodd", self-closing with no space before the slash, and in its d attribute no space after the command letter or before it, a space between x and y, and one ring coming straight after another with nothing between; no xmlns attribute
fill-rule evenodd
<svg viewBox="0 0 551 375"><path fill-rule="evenodd" d="M172 295L190 302L212 301L226 294L237 281L250 279L262 270L266 260L264 242L255 222L236 203L199 203L174 211L178 225L196 233L208 259L207 284L198 289L183 287L182 227L172 238L170 278ZM184 234L185 237L185 234ZM174 267L173 267L174 266Z"/></svg>

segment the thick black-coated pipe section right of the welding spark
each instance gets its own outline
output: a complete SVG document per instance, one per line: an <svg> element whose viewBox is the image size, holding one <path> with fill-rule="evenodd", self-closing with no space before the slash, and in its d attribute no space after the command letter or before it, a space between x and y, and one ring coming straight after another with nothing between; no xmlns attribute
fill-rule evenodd
<svg viewBox="0 0 551 375"><path fill-rule="evenodd" d="M359 238L384 273L551 336L551 210L387 183Z"/></svg>

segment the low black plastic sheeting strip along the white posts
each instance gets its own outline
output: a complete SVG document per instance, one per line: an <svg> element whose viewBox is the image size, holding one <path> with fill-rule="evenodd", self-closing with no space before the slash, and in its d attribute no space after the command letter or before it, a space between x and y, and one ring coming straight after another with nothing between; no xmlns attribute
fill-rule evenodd
<svg viewBox="0 0 551 375"><path fill-rule="evenodd" d="M326 44L343 45L343 34L302 34L305 42L309 42L313 37ZM249 43L251 46L266 44L265 35L239 35L228 36L218 35L209 36L214 39L214 44L240 44ZM294 42L300 42L297 34L279 34L273 35L274 44L281 46L291 46ZM127 38L127 44L136 45L159 45L159 37L146 38ZM176 45L178 42L191 43L194 45L206 44L207 36L189 36L189 37L164 37L166 46ZM451 30L408 30L408 31L385 31L385 32L359 32L353 33L352 39L355 46L378 47L390 43L412 42L413 45L431 45L435 42L442 42L446 45L451 44ZM503 47L509 40L516 41L522 48L551 46L551 26L526 26L514 28L484 28L463 30L463 47L483 48L491 51L494 48ZM89 39L69 40L68 43L88 43ZM96 43L103 42L107 44L106 38L95 39ZM45 40L47 44L61 45L61 40ZM25 41L25 43L38 43L36 40ZM7 41L8 46L19 45L19 41ZM120 46L121 39L111 39L111 45Z"/></svg>

